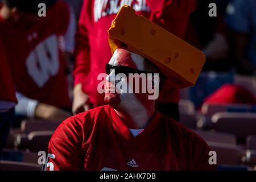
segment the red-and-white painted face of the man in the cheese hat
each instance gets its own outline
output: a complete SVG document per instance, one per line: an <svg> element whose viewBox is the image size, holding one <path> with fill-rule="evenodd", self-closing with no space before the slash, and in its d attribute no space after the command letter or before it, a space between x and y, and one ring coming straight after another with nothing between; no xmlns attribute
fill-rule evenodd
<svg viewBox="0 0 256 182"><path fill-rule="evenodd" d="M152 100L148 100L148 92L143 93L143 81L136 82L133 77L127 73L136 73L137 76L146 75L149 72L156 72L156 69L148 69L144 57L129 52L126 49L119 48L114 52L112 59L109 61L109 75L105 84L105 102L112 106L133 107L134 104L140 104L146 107ZM120 67L121 66L121 67ZM142 72L145 73L142 73ZM125 73L125 74L124 74ZM142 74L141 74L142 73ZM144 77L146 82L148 77ZM133 81L132 81L133 80ZM151 79L152 80L152 79ZM122 85L122 86L118 86ZM132 92L129 91L132 90ZM139 93L135 90L139 89Z"/></svg>

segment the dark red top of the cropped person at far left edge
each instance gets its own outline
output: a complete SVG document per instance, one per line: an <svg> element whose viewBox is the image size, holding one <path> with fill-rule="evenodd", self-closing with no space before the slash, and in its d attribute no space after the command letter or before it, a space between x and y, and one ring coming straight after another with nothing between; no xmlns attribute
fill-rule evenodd
<svg viewBox="0 0 256 182"><path fill-rule="evenodd" d="M0 35L1 37L1 35ZM9 64L7 62L5 52L3 51L3 44L0 39L0 101L17 102L15 97L15 89Z"/></svg>

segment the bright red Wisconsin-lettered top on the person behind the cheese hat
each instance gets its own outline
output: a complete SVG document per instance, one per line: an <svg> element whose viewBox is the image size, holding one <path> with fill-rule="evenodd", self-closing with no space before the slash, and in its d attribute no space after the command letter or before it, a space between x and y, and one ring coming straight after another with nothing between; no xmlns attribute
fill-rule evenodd
<svg viewBox="0 0 256 182"><path fill-rule="evenodd" d="M89 95L94 106L104 105L104 94L97 92L97 76L105 73L105 64L112 57L108 30L122 5L133 7L138 15L144 15L159 26L184 37L189 14L195 0L130 0L130 1L84 1L79 29L76 36L75 84L82 83L82 90ZM179 89L164 85L158 102L179 102Z"/></svg>

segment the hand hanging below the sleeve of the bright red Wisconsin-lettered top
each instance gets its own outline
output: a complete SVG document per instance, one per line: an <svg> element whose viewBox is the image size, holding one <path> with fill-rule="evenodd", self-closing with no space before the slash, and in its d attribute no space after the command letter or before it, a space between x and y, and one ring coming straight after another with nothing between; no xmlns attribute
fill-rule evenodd
<svg viewBox="0 0 256 182"><path fill-rule="evenodd" d="M82 84L77 84L73 89L73 114L78 114L83 111L92 109L89 97L82 91Z"/></svg>

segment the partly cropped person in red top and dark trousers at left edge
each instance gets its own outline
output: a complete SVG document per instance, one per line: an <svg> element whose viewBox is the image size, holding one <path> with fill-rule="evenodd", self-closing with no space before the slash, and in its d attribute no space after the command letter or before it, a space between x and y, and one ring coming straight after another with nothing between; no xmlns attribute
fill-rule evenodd
<svg viewBox="0 0 256 182"><path fill-rule="evenodd" d="M1 35L0 35L1 37ZM0 39L0 158L3 147L14 117L14 106L16 105L15 88L9 69L5 52L3 51L2 40Z"/></svg>

